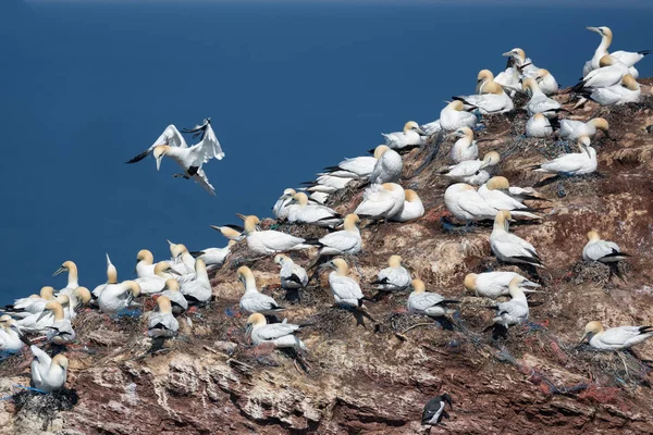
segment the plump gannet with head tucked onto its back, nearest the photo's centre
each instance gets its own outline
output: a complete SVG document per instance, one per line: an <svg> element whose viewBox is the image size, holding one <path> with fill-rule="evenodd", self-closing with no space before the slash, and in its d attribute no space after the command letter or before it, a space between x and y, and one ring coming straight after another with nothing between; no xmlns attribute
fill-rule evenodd
<svg viewBox="0 0 653 435"><path fill-rule="evenodd" d="M404 188L396 183L372 184L354 213L362 219L389 220L402 212L405 199Z"/></svg>

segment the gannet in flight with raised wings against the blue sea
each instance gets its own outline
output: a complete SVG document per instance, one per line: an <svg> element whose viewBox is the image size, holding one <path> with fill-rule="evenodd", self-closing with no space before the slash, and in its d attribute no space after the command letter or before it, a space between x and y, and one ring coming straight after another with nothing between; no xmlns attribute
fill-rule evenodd
<svg viewBox="0 0 653 435"><path fill-rule="evenodd" d="M163 157L173 159L184 171L182 176L186 179L193 178L196 183L202 186L209 194L215 195L215 189L209 183L209 178L202 170L202 165L211 159L222 160L224 152L222 147L211 128L210 119L205 120L202 125L198 125L192 129L185 129L184 133L196 133L195 136L201 134L201 139L196 145L188 147L181 133L174 125L169 125L161 136L147 150L136 156L127 163L136 163L152 153L157 161L157 171L161 167Z"/></svg>

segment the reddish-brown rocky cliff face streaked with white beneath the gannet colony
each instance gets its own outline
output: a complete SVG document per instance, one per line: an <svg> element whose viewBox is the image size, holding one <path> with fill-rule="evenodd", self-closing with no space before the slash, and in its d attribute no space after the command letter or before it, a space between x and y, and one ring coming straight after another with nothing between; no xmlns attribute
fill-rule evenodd
<svg viewBox="0 0 653 435"><path fill-rule="evenodd" d="M566 96L558 98L566 102ZM552 200L542 224L514 228L538 248L547 268L540 272L544 291L530 299L530 322L513 327L506 338L495 340L484 331L492 323L486 309L492 302L466 294L461 284L467 273L500 268L490 252L490 228L453 234L440 222L446 215L446 184L434 170L452 145L447 139L439 149L430 144L405 156L403 184L419 192L427 214L408 224L366 227L365 252L352 276L369 283L390 254L398 253L430 290L461 300L451 323L407 314L407 294L370 303L371 319L357 322L332 307L325 274L301 301L284 300L272 258L254 259L241 244L212 278L215 300L182 318L180 336L164 351L146 353L143 319L81 313L79 346L66 350L67 387L78 396L76 405L71 391L65 400L47 403L21 393L16 400L0 401L0 433L416 434L427 431L419 423L423 405L446 390L454 410L451 420L431 430L434 434L653 434L649 366L642 362L653 358L653 341L638 346L638 357L577 346L590 320L607 326L653 324L653 134L646 129L653 101L648 97L618 108L590 103L570 116L609 122L611 137L599 133L593 141L599 174L543 182L525 170L564 145L520 138L523 111L491 116L477 134L481 153L503 153L500 173L512 184L539 186ZM432 152L433 162L409 178ZM349 212L360 197L353 186L332 206ZM590 228L633 254L620 266L623 279L580 261ZM292 257L306 264L312 254ZM243 289L235 270L242 264L255 271L259 288L291 307L288 321L315 323L301 336L308 355L248 343L237 310ZM27 360L24 355L0 363L3 396L15 393L15 384L28 384ZM53 411L53 402L63 410Z"/></svg>

